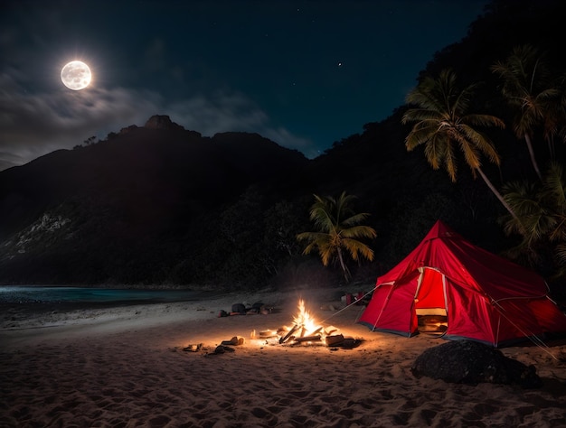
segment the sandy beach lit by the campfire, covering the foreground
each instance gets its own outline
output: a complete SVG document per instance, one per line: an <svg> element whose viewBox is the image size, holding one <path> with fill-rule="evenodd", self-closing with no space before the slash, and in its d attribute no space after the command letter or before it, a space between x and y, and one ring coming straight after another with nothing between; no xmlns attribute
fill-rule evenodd
<svg viewBox="0 0 566 428"><path fill-rule="evenodd" d="M361 340L354 349L250 339L292 325L298 297L317 321ZM267 315L219 318L261 301ZM332 309L335 309L334 311ZM229 294L205 302L94 310L12 310L0 324L3 427L563 427L566 345L505 348L533 364L539 389L416 378L424 349L445 343L371 332L336 292ZM233 352L222 340L243 337ZM203 346L196 352L188 345Z"/></svg>

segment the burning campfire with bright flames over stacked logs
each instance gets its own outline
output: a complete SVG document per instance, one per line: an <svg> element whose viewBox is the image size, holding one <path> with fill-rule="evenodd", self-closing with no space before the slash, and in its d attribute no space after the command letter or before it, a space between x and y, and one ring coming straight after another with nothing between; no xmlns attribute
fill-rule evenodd
<svg viewBox="0 0 566 428"><path fill-rule="evenodd" d="M307 311L305 301L298 301L298 313L293 319L293 325L278 330L279 344L326 344L327 346L340 346L344 343L344 336L336 334L335 327L323 327Z"/></svg>

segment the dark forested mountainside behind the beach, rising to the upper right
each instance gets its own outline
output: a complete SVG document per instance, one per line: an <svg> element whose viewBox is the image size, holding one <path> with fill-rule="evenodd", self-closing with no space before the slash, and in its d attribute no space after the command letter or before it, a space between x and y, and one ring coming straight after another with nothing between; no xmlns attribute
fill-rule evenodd
<svg viewBox="0 0 566 428"><path fill-rule="evenodd" d="M545 171L566 158L565 16L559 0L495 0L467 37L437 52L416 81L419 88L450 69L459 88L475 88L466 114L505 124L474 123L493 144L497 163L470 157L460 145L450 163L442 161L458 171L452 182L430 168L420 147L407 152L414 122L402 118L418 107L414 98L312 161L259 135L208 138L159 116L150 122L160 126L128 126L104 141L89 138L71 151L0 172L0 282L339 284L342 269L325 268L316 254L304 256L296 237L312 230L313 194L346 192L356 196L355 212L371 214L366 226L377 232L368 241L373 262L344 262L354 281L373 283L442 219L476 245L532 266L553 281L554 293L564 293L564 180ZM517 64L532 79L521 80ZM536 86L525 91L524 82L534 78ZM475 179L479 171L518 219ZM532 201L530 210L522 198ZM537 234L528 235L533 213L541 221Z"/></svg>

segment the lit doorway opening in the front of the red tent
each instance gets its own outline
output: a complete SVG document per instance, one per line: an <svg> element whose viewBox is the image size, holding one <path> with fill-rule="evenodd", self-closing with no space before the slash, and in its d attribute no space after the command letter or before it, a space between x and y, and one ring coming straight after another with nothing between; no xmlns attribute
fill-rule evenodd
<svg viewBox="0 0 566 428"><path fill-rule="evenodd" d="M420 333L441 336L448 330L446 276L431 267L420 267L414 305Z"/></svg>

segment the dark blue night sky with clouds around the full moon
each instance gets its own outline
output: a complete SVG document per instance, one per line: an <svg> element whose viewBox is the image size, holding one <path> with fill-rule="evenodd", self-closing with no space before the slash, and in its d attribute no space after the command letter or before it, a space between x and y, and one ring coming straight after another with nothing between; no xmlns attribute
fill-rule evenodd
<svg viewBox="0 0 566 428"><path fill-rule="evenodd" d="M403 104L486 0L0 2L0 170L168 115L316 157ZM90 86L62 85L70 60Z"/></svg>

